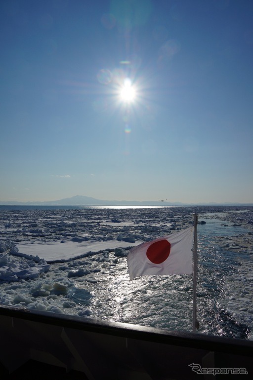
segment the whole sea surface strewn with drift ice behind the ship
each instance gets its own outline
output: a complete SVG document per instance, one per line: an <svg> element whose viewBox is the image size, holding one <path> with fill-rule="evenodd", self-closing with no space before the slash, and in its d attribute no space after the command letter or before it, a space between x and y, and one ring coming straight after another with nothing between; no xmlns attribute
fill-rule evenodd
<svg viewBox="0 0 253 380"><path fill-rule="evenodd" d="M192 277L129 281L127 254L189 227L193 212L207 222L199 227L200 332L250 338L252 208L0 210L0 304L191 330Z"/></svg>

